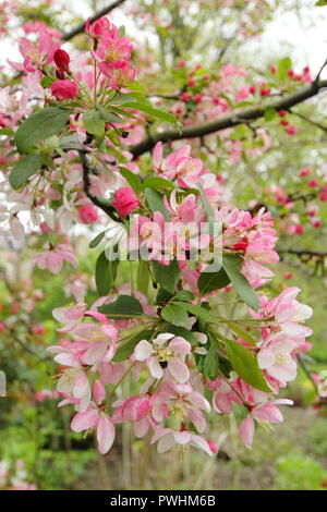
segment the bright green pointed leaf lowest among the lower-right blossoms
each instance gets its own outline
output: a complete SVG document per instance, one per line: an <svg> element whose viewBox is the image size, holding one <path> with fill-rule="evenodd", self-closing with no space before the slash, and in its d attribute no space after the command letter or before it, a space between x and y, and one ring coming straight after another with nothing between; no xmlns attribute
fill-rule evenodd
<svg viewBox="0 0 327 512"><path fill-rule="evenodd" d="M245 346L232 340L228 340L226 350L232 367L241 379L261 391L265 391L267 393L271 392L263 371L257 365L256 356L254 354L252 354Z"/></svg>

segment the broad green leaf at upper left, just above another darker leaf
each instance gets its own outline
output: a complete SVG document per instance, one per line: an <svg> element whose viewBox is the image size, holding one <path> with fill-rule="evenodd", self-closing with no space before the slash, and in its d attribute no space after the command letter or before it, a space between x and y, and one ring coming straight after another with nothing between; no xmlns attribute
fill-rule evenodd
<svg viewBox="0 0 327 512"><path fill-rule="evenodd" d="M33 113L24 121L15 133L15 144L20 153L51 135L56 135L64 127L71 111L59 107L48 107Z"/></svg>

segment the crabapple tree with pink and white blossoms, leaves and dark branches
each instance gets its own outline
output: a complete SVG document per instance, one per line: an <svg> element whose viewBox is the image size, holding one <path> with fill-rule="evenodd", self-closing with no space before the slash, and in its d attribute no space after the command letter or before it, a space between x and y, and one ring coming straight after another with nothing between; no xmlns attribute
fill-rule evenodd
<svg viewBox="0 0 327 512"><path fill-rule="evenodd" d="M326 127L299 107L327 82L323 68L313 77L288 57L265 78L225 60L271 14L271 2L228 0L192 2L203 7L196 26L190 2L145 1L128 11L158 36L159 81L156 54L106 17L122 3L66 34L43 20L24 25L22 59L9 60L17 74L0 93L0 220L16 241L33 227L41 246L33 265L45 278L70 266L73 304L56 304L60 339L47 350L60 365L56 389L59 405L74 410L73 431L95 430L104 454L117 425L132 422L159 453L190 444L213 455L208 418L237 405L251 448L255 425L282 422L279 405L292 405L279 392L311 348L304 322L312 308L298 301L296 285L274 288L270 265L284 254L306 258L308 268L314 261L323 270L325 261L314 245L277 249L277 233L281 241L303 234L304 219L323 229L327 181L306 162L284 187L258 175L254 190L244 183L247 207L240 209L242 193L225 175L267 166L274 137L301 141L304 123L318 141ZM215 65L209 56L206 66L186 62L216 3L227 24L238 21L237 33L227 38L215 25ZM8 15L16 7L8 2ZM78 49L66 46L81 33ZM98 252L95 300L78 276L83 252L73 247L72 228L82 224L96 234L87 231ZM37 308L41 295L33 287L28 293ZM14 337L7 319L0 328ZM324 400L324 376L311 379Z"/></svg>

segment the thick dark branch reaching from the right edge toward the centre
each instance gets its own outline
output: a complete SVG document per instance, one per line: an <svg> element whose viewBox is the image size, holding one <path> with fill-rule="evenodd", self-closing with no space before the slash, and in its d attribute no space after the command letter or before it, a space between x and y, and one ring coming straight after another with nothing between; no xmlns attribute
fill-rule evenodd
<svg viewBox="0 0 327 512"><path fill-rule="evenodd" d="M238 124L243 124L244 122L255 121L256 119L262 118L267 109L289 110L291 107L294 107L294 105L301 103L302 101L316 96L324 87L327 87L327 80L319 83L313 82L311 85L302 87L295 93L286 96L278 101L271 101L261 107L253 107L251 109L232 113L231 115L209 121L207 123L187 126L184 127L181 132L178 130L170 130L162 133L156 133L148 136L145 141L137 144L130 150L135 159L141 155L152 150L158 141L167 143L170 141L179 141L181 138L203 137L204 135L220 132L221 130L233 127Z"/></svg>

